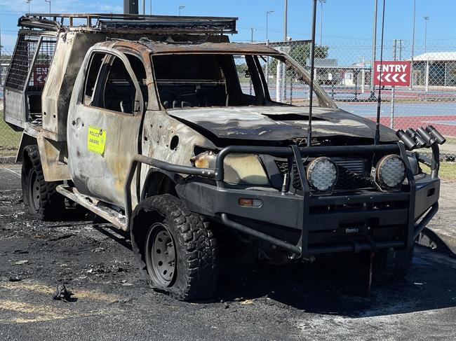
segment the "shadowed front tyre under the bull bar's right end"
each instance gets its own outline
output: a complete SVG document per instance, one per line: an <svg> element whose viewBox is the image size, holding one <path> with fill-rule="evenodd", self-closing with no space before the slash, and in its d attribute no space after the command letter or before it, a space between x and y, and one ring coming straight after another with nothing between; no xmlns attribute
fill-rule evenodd
<svg viewBox="0 0 456 341"><path fill-rule="evenodd" d="M410 249L382 249L374 256L373 274L379 281L402 279L412 265L413 246Z"/></svg>

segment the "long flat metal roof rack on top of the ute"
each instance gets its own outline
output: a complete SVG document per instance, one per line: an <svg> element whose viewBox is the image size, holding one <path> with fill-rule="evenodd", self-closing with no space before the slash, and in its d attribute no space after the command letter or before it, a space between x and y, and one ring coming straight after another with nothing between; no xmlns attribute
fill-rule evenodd
<svg viewBox="0 0 456 341"><path fill-rule="evenodd" d="M61 14L27 13L18 26L46 31L86 31L147 34L222 34L237 33L236 20L225 17L189 17L137 14ZM79 25L76 25L79 24Z"/></svg>

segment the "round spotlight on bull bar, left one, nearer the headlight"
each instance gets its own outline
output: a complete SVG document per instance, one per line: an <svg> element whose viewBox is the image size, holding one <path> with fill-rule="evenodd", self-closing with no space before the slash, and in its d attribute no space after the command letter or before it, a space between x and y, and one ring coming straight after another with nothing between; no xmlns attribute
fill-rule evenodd
<svg viewBox="0 0 456 341"><path fill-rule="evenodd" d="M307 168L307 180L311 189L328 192L337 181L337 165L326 156L316 158Z"/></svg>

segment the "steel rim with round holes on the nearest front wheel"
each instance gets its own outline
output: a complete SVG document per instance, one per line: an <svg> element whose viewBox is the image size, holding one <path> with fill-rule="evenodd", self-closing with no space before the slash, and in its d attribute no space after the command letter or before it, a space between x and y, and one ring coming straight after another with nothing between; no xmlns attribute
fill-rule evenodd
<svg viewBox="0 0 456 341"><path fill-rule="evenodd" d="M146 263L149 276L159 286L171 286L176 275L173 235L163 223L155 223L147 236Z"/></svg>

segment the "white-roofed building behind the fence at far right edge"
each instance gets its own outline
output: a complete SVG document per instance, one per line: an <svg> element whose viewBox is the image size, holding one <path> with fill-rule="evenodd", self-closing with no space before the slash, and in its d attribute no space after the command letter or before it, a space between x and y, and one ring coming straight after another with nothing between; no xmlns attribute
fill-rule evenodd
<svg viewBox="0 0 456 341"><path fill-rule="evenodd" d="M427 52L413 57L413 85L456 87L456 51Z"/></svg>

